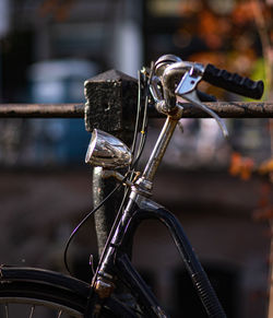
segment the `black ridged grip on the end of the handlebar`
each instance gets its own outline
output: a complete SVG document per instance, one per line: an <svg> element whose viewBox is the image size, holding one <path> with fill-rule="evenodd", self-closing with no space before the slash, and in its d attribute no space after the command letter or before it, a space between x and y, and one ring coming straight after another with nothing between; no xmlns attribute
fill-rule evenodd
<svg viewBox="0 0 273 318"><path fill-rule="evenodd" d="M254 99L262 97L264 89L262 81L252 81L237 73L219 70L213 64L205 67L203 80L217 87Z"/></svg>

